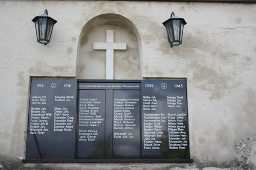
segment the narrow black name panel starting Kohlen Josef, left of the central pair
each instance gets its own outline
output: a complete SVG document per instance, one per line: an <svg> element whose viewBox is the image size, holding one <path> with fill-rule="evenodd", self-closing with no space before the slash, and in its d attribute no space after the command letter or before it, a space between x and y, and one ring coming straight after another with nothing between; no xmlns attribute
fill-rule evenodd
<svg viewBox="0 0 256 170"><path fill-rule="evenodd" d="M104 159L105 90L80 90L78 112L77 158Z"/></svg>

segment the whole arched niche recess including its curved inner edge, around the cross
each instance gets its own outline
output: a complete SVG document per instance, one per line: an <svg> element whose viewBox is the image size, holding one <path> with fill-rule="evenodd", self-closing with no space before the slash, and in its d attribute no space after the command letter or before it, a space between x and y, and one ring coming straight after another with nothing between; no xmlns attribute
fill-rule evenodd
<svg viewBox="0 0 256 170"><path fill-rule="evenodd" d="M126 51L114 50L114 79L141 79L141 39L134 24L118 14L102 14L84 25L78 44L77 78L105 79L106 51L93 50L94 42L106 42L106 30L114 42L126 42Z"/></svg>

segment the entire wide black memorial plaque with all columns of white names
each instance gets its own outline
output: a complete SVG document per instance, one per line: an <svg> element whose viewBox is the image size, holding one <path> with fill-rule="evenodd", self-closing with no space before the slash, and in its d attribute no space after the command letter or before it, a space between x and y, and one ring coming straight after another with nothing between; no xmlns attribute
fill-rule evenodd
<svg viewBox="0 0 256 170"><path fill-rule="evenodd" d="M186 80L32 80L23 162L193 162Z"/></svg>

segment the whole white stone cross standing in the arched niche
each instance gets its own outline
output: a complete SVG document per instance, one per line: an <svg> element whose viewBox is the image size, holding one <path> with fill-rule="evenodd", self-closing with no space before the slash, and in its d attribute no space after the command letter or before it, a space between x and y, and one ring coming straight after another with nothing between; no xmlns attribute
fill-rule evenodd
<svg viewBox="0 0 256 170"><path fill-rule="evenodd" d="M94 42L93 50L106 50L106 79L114 79L114 50L126 51L126 43L114 42L114 31L106 30L106 42Z"/></svg>

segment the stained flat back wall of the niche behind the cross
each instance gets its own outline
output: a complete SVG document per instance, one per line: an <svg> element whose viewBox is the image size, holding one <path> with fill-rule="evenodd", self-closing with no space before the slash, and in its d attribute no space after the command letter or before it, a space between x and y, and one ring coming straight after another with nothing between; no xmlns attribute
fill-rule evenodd
<svg viewBox="0 0 256 170"><path fill-rule="evenodd" d="M114 31L114 42L126 42L126 51L114 50L114 79L141 79L136 38L124 28L113 25L98 26L84 37L79 52L78 79L106 78L106 51L93 50L92 45L106 42L106 30Z"/></svg>

